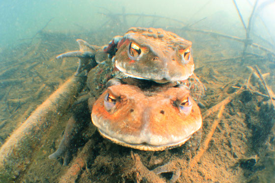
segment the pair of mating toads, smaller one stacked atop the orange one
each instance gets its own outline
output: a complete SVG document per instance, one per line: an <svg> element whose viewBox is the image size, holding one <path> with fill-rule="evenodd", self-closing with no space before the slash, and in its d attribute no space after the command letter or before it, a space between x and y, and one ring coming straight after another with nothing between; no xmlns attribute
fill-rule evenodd
<svg viewBox="0 0 275 183"><path fill-rule="evenodd" d="M78 57L76 75L85 70L92 96L105 90L91 112L102 136L126 147L160 151L184 144L201 129L200 109L189 89L192 95L193 88L203 90L193 75L192 42L161 28L136 27L105 47L77 41L80 51L57 58Z"/></svg>

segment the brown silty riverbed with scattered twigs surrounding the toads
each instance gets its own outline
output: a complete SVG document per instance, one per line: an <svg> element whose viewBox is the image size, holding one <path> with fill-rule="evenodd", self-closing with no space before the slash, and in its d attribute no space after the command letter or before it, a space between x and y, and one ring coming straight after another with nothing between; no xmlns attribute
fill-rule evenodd
<svg viewBox="0 0 275 183"><path fill-rule="evenodd" d="M78 145L71 164L62 166L62 159L48 159L48 156L58 147L66 121L71 115L68 111L61 114L60 121L53 124L50 131L45 132L30 165L18 175L15 182L62 181L75 159L87 150L85 165L74 176L77 183L150 182L152 172L146 170L168 162L173 162L173 168L179 170L177 182L180 183L264 183L274 180L275 110L269 97L256 95L255 91L268 94L260 79L255 74L251 75L253 71L247 66L255 71L254 66L257 65L270 91L275 91L275 60L264 52L248 48L248 52L255 54L246 55L241 63L242 43L194 32L169 30L193 42L195 73L207 87L206 95L201 99L206 108L202 108L201 112L206 114L209 108L231 96L222 111L219 108L203 120L202 142L197 151L189 151L187 145L161 152L125 148L101 137L87 116L83 118L83 123L89 125L76 142ZM1 50L1 144L32 110L74 74L78 66L77 59L57 60L56 55L78 50L77 38L101 46L117 34L122 35L123 32L102 31L79 35L42 32L28 44ZM215 123L217 127L213 129ZM211 131L214 133L207 143ZM135 157L140 157L140 161ZM167 181L171 176L172 172L162 174L160 178Z"/></svg>

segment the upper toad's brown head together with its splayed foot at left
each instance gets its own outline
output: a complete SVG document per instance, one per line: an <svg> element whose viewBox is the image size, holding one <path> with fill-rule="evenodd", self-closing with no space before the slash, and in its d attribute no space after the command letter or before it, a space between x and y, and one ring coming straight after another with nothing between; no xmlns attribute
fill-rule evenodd
<svg viewBox="0 0 275 183"><path fill-rule="evenodd" d="M192 42L162 28L130 28L115 36L108 46L89 45L78 39L79 51L66 52L56 58L78 57L76 76L112 58L112 67L121 77L133 77L165 83L189 78L194 71ZM119 78L119 77L118 77Z"/></svg>

